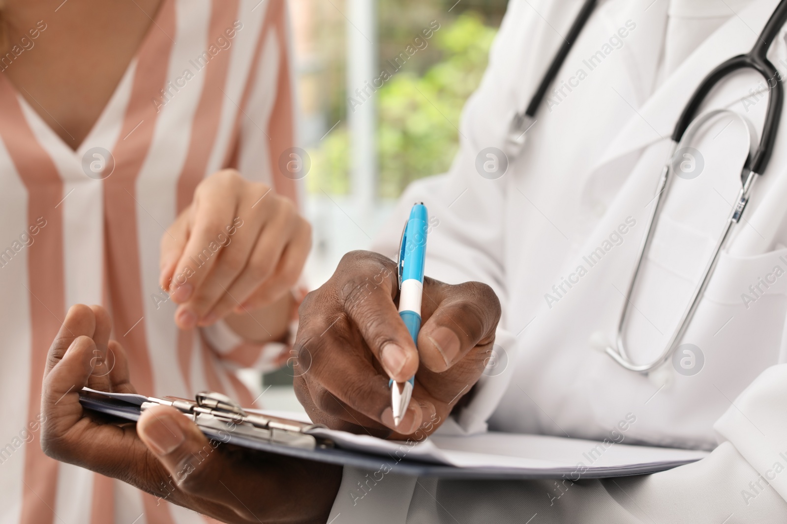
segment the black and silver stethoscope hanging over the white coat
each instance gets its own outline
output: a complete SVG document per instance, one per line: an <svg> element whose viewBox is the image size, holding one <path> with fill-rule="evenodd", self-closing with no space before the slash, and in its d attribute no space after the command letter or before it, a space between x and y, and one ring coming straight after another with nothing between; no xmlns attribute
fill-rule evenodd
<svg viewBox="0 0 787 524"><path fill-rule="evenodd" d="M585 27L585 24L591 13L593 13L593 9L596 8L596 5L597 0L586 0L585 4L582 5L582 8L579 10L577 17L574 20L574 23L571 24L571 29L568 31L568 35L564 39L560 49L558 49L557 54L552 59L552 64L549 65L544 78L541 79L541 83L538 85L538 89L530 99L530 104L527 105L527 108L524 112L517 113L512 119L511 126L508 130L507 148L508 152L511 152L513 155L518 155L523 148L525 143L525 133L528 129L530 129L530 126L535 123L535 115L539 106L541 105L541 101L544 99L549 86L555 79L557 72L560 71L563 61L571 50L571 46L574 45L574 42L579 36L579 33L582 31L582 27ZM787 22L787 0L781 0L776 9L774 9L774 12L770 15L767 24L765 24L765 27L763 27L763 31L759 34L759 37L757 38L755 45L752 47L752 50L746 54L738 55L737 57L732 57L729 60L722 62L722 64L719 64L713 71L708 73L702 82L700 82L700 86L694 90L691 98L689 98L689 102L685 105L685 108L683 108L683 112L678 118L678 122L675 123L675 128L671 137L672 150L670 159L663 167L659 184L656 186L656 196L653 199L654 204L648 220L647 233L642 240L637 263L634 266L634 270L631 274L629 288L626 292L626 301L623 302L623 311L620 314L620 320L618 323L617 339L615 341L614 347L608 344L605 348L606 353L615 359L619 365L622 365L623 368L634 372L647 373L655 368L658 368L671 357L671 354L674 352L675 345L680 341L683 334L685 333L686 328L689 326L689 322L693 317L696 306L698 306L700 298L702 297L702 294L708 285L708 281L711 279L716 262L719 260L722 247L724 247L727 238L730 236L733 225L737 224L741 220L741 216L745 210L746 203L748 203L748 199L752 191L754 180L757 178L757 176L763 174L765 168L767 167L768 161L770 160L770 155L774 150L776 133L778 132L779 121L781 119L781 105L784 101L784 91L782 90L781 86L781 76L778 74L778 71L776 71L774 64L771 64L770 60L767 59L766 55L768 49L770 49L771 43L774 42L774 38L776 38L779 30L785 24L785 22ZM669 343L667 343L667 346L663 349L656 360L646 364L637 364L632 361L626 353L626 348L623 344L623 332L626 327L628 310L631 304L631 296L634 293L634 287L637 283L637 275L641 269L642 261L645 259L645 254L648 252L648 247L650 246L652 240L653 231L655 230L659 213L663 207L664 196L667 194L670 187L669 182L672 178L674 178L672 177L674 174L674 159L672 159L672 157L678 150L678 145L680 145L682 141L686 141L689 137L691 137L701 124L708 122L708 119L711 119L722 112L730 112L729 110L715 110L707 112L704 115L700 115L695 119L695 115L697 110L700 108L700 104L702 104L705 97L708 96L708 93L711 91L711 89L727 75L730 75L730 73L741 69L753 69L757 71L763 76L767 83L768 105L765 123L763 124L762 138L760 139L757 148L755 149L752 147L748 157L746 158L743 169L741 170L741 190L738 192L735 205L730 212L730 217L727 220L726 228L716 242L713 256L708 261L708 265L705 266L704 274L700 280L700 284L696 286L691 302L689 302L689 306L685 309L681 321L678 324L678 328L675 329ZM733 115L737 114L733 113ZM737 115L737 118L742 119L740 115Z"/></svg>

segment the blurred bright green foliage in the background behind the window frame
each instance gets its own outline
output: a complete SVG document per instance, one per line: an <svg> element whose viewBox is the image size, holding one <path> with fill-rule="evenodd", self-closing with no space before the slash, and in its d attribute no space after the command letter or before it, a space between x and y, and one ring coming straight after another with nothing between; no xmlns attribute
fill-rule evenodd
<svg viewBox="0 0 787 524"><path fill-rule="evenodd" d="M396 198L411 181L448 169L458 148L457 128L464 102L478 87L486 68L496 29L485 24L482 14L466 10L440 23L423 49L426 53L416 53L416 57L420 53L420 63L408 61L377 91L378 187L383 198ZM412 31L411 41L417 32ZM408 43L402 42L390 56L396 57ZM425 56L437 61L424 66ZM385 66L386 58L381 57L381 65ZM349 136L344 122L309 154L310 192L349 192Z"/></svg>

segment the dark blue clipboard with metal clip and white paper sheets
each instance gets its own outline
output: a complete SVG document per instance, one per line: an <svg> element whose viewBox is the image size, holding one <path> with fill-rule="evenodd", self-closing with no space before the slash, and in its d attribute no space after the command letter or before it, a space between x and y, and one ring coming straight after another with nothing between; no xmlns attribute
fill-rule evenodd
<svg viewBox="0 0 787 524"><path fill-rule="evenodd" d="M364 435L334 431L321 424L305 423L280 416L271 416L257 410L243 409L224 394L201 392L192 400L176 397L154 398L140 394L108 393L84 387L79 391L79 402L85 409L117 417L120 420L136 421L142 411L154 405L169 405L189 416L206 437L225 444L256 449L265 453L315 460L328 464L359 467L370 471L381 468L398 475L460 479L538 479L538 478L608 478L629 475L644 475L664 471L672 467L700 460L708 452L646 448L644 446L617 445L630 449L649 450L659 460L624 460L623 464L587 467L578 472L575 464L549 464L547 460L530 460L517 464L516 457L498 455L497 460L484 461L483 453L467 453L450 450L457 442L472 445L476 439L484 447L531 445L534 449L571 447L578 443L591 446L598 442L573 438L549 437L545 435L482 434L471 437L438 437L433 435L427 442L418 445L430 447L434 453L397 452L403 442L384 441ZM522 440L518 440L522 439ZM443 449L434 446L438 442ZM501 444L502 443L502 444ZM538 446L541 446L539 448ZM545 447L544 447L545 446ZM444 453L445 452L445 453ZM660 453L663 452L663 453ZM453 455L451 454L453 453ZM587 454L584 454L587 456ZM471 456L465 464L452 464L452 456ZM482 457L478 460L478 457ZM501 460L502 459L502 460ZM501 466L500 463L503 463ZM514 464L513 466L509 464Z"/></svg>

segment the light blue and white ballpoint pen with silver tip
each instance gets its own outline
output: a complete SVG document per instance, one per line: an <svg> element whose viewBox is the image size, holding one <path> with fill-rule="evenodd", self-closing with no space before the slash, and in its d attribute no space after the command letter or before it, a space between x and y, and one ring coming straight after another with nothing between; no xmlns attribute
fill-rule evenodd
<svg viewBox="0 0 787 524"><path fill-rule="evenodd" d="M423 265L427 258L427 207L416 203L401 234L399 246L399 316L405 322L412 342L418 345L421 328L421 297L423 295ZM389 383L393 423L399 425L407 412L416 377L405 383Z"/></svg>

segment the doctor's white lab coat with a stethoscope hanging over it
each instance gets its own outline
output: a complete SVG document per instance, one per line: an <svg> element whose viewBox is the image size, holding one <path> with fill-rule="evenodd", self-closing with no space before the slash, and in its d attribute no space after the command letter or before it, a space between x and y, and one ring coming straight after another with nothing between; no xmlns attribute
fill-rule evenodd
<svg viewBox="0 0 787 524"><path fill-rule="evenodd" d="M603 439L632 413L627 443L715 450L672 471L570 489L389 475L363 500L349 492L365 472L345 468L331 514L341 514L337 523L530 522L535 514L533 522L787 522L787 133L778 134L745 221L682 338L700 349L699 372L679 373L672 360L649 376L629 372L591 342L615 338L685 102L708 71L748 52L778 2L757 0L731 16L655 90L667 2L600 5L557 76L555 86L571 90L545 101L523 154L501 178L480 176L478 153L504 148L513 112L527 104L580 3L510 2L482 86L465 108L451 170L408 188L377 249L395 254L408 208L423 200L439 222L427 275L481 280L501 298L497 368L441 431ZM623 33L622 46L604 46ZM604 57L589 63L597 51ZM784 75L785 30L769 58ZM745 115L756 141L763 90L756 74L734 75L703 110ZM636 361L660 354L687 305L740 188L745 137L744 126L722 117L691 144L704 167L696 178L676 179L630 310L625 339Z"/></svg>

